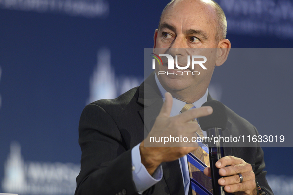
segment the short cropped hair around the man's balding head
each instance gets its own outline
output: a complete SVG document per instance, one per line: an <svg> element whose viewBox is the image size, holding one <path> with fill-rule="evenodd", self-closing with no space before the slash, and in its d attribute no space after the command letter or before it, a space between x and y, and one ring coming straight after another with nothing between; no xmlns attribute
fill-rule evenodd
<svg viewBox="0 0 293 195"><path fill-rule="evenodd" d="M180 3L190 3L190 2L188 2L190 0L172 0L172 1L170 1L162 11L162 14L160 16L160 21L159 21L159 27L158 28L160 28L162 16L167 11L169 11L168 10L169 6L170 5L173 6L175 3L177 3L177 1L181 1ZM201 5L204 5L205 7L207 7L207 10L209 12L211 12L209 14L209 16L210 16L209 19L214 20L214 22L216 24L215 25L216 26L216 28L215 28L215 40L216 40L216 42L218 43L222 39L225 39L226 34L227 34L227 21L226 21L226 16L225 16L222 8L220 7L220 5L218 3L216 3L214 0L191 0L191 1L200 3Z"/></svg>

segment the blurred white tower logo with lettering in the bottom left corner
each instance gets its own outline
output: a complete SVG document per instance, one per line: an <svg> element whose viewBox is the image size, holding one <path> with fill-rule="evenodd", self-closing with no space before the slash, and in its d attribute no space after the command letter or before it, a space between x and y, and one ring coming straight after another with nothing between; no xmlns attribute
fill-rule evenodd
<svg viewBox="0 0 293 195"><path fill-rule="evenodd" d="M10 145L4 165L2 190L21 195L73 195L80 165L60 162L25 162L18 142Z"/></svg>

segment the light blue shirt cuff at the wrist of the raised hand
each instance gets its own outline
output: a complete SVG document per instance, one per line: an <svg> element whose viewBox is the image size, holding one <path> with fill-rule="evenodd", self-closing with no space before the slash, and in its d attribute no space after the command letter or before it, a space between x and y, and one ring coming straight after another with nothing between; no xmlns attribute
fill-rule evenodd
<svg viewBox="0 0 293 195"><path fill-rule="evenodd" d="M131 150L132 176L136 190L138 193L142 194L143 191L147 190L162 179L163 169L162 165L160 165L155 170L153 176L151 176L145 166L141 163L139 146L140 143Z"/></svg>

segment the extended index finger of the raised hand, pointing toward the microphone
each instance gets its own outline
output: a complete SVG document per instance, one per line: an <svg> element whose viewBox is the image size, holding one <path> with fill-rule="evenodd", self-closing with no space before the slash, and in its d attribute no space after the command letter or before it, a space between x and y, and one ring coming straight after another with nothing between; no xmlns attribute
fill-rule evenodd
<svg viewBox="0 0 293 195"><path fill-rule="evenodd" d="M211 106L203 106L200 108L194 108L191 110L187 110L183 112L182 114L179 114L177 116L174 116L177 118L177 120L181 122L189 122L195 118L207 116L213 113L213 108Z"/></svg>

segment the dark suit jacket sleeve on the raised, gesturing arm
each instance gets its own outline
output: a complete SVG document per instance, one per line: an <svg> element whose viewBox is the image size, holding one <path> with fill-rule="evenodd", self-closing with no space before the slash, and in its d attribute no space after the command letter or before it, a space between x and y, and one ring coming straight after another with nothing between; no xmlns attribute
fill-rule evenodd
<svg viewBox="0 0 293 195"><path fill-rule="evenodd" d="M96 104L87 105L79 122L81 171L75 195L138 195L132 180L131 150L113 118Z"/></svg>

